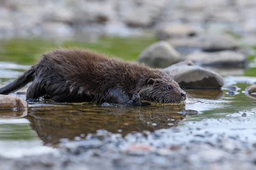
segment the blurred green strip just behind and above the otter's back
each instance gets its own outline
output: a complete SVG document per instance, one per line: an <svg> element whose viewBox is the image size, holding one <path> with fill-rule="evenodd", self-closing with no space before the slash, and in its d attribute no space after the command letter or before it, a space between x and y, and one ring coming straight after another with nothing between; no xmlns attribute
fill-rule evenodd
<svg viewBox="0 0 256 170"><path fill-rule="evenodd" d="M102 37L98 43L64 41L55 43L39 39L13 39L0 43L0 60L33 65L40 55L54 48L84 48L125 60L135 60L144 48L157 40L154 37Z"/></svg>

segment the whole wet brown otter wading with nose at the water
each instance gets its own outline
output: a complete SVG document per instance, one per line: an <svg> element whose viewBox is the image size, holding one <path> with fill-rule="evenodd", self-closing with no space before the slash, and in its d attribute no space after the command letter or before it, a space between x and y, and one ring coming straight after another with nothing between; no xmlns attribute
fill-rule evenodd
<svg viewBox="0 0 256 170"><path fill-rule="evenodd" d="M158 69L81 49L42 54L38 64L0 88L0 94L17 91L29 82L26 100L48 96L55 102L124 103L134 94L151 102L186 100L178 83Z"/></svg>

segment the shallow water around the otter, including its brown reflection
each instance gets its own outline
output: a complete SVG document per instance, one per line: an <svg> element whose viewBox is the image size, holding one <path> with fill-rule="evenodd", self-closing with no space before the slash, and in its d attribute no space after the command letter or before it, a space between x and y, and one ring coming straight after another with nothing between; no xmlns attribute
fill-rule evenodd
<svg viewBox="0 0 256 170"><path fill-rule="evenodd" d="M27 68L28 65L0 62L0 85ZM133 131L185 128L193 121L200 125L206 118L237 119L227 115L256 108L256 100L242 93L256 78L226 77L225 81L226 85L239 86L239 93L230 96L227 90L188 91L192 98L187 99L186 105L102 108L90 103L30 102L28 112L0 111L0 155L19 157L52 152L60 141L83 139L99 129L126 136ZM25 98L24 91L26 88L14 95ZM226 126L220 124L215 130Z"/></svg>

